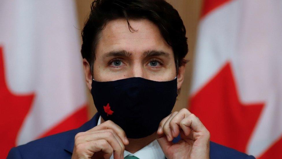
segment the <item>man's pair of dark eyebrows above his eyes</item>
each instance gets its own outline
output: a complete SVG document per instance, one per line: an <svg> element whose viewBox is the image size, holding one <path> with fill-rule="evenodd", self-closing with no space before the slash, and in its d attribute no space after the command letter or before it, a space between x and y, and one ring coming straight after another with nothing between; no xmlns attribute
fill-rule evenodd
<svg viewBox="0 0 282 159"><path fill-rule="evenodd" d="M130 57L132 56L131 52L128 52L126 50L120 50L120 51L110 51L103 55L103 58L109 57L109 56L123 56L123 57ZM151 56L164 56L166 58L169 58L169 53L158 51L158 50L148 50L143 53L143 56L145 58L151 57Z"/></svg>

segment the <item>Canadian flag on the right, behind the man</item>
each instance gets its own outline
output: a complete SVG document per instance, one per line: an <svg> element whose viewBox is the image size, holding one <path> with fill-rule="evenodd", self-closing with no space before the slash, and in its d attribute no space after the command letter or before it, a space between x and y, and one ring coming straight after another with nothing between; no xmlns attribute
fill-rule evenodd
<svg viewBox="0 0 282 159"><path fill-rule="evenodd" d="M204 0L190 111L211 140L282 158L282 1Z"/></svg>

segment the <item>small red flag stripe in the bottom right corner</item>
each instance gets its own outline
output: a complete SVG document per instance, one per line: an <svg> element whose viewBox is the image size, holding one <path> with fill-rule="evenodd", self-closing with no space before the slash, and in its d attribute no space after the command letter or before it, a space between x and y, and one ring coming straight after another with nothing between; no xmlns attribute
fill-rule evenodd
<svg viewBox="0 0 282 159"><path fill-rule="evenodd" d="M258 159L268 159L268 158L282 158L282 136L277 140L262 156Z"/></svg>

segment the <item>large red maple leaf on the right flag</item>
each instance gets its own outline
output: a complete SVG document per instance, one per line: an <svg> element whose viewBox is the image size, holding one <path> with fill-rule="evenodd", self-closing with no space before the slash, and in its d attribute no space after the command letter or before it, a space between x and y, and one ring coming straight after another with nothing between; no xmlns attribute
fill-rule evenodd
<svg viewBox="0 0 282 159"><path fill-rule="evenodd" d="M191 98L190 111L211 133L211 140L246 152L264 103L243 104L227 63Z"/></svg>

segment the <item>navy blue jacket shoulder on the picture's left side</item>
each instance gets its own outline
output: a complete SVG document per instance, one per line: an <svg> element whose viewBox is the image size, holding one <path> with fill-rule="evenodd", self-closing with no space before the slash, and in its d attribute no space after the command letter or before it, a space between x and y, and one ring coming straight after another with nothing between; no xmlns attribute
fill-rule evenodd
<svg viewBox="0 0 282 159"><path fill-rule="evenodd" d="M73 151L75 135L95 127L99 116L100 115L96 113L91 120L77 129L47 136L18 147L13 147L7 158L70 158Z"/></svg>

